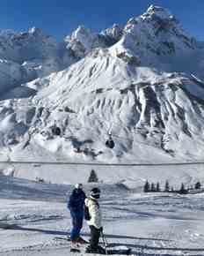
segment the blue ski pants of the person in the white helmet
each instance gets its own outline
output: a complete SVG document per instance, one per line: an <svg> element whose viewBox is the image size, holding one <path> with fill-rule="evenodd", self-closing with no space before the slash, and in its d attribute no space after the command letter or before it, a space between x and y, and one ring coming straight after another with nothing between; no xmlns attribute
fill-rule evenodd
<svg viewBox="0 0 204 256"><path fill-rule="evenodd" d="M70 234L71 241L75 241L80 236L80 231L83 226L84 215L77 215L76 213L70 212L72 218L72 230Z"/></svg>

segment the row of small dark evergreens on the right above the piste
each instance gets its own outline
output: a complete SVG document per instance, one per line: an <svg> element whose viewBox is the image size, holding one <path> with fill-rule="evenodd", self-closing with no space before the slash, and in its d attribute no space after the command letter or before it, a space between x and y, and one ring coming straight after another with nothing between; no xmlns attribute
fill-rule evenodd
<svg viewBox="0 0 204 256"><path fill-rule="evenodd" d="M175 192L180 194L186 194L190 190L200 190L200 188L201 188L201 184L198 181L197 183L194 184L194 187L191 187L191 188L188 187L187 189L185 187L185 184L182 183L180 185L180 189L176 190L174 189L173 186L171 186L170 188L169 181L166 180L164 184L164 190L161 190L159 182L157 182L157 184L154 184L154 183L149 183L149 181L147 180L143 186L143 192Z"/></svg>

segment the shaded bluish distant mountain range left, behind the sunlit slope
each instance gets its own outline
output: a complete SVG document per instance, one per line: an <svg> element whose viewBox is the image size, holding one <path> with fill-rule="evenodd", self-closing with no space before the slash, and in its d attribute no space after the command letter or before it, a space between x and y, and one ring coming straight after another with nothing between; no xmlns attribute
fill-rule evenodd
<svg viewBox="0 0 204 256"><path fill-rule="evenodd" d="M89 29L79 26L70 36L57 43L36 27L25 33L0 31L0 92L61 71L92 49L113 45L119 40L120 33L120 27L115 25L104 34L92 34Z"/></svg>

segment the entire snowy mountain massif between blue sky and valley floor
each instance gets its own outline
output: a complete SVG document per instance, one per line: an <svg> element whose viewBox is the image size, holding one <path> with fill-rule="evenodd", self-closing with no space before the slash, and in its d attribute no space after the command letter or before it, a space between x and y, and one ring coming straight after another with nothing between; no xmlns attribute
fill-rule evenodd
<svg viewBox="0 0 204 256"><path fill-rule="evenodd" d="M204 47L164 8L60 43L36 28L0 39L2 159L202 159Z"/></svg>

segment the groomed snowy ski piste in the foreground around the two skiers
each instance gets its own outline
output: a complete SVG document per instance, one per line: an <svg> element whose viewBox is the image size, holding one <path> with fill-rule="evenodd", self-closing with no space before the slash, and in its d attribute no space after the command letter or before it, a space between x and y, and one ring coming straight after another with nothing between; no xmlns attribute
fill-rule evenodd
<svg viewBox="0 0 204 256"><path fill-rule="evenodd" d="M12 180L12 179L11 179ZM18 190L26 181L18 181ZM95 184L85 185L85 191ZM203 194L176 196L171 194L143 194L113 184L98 184L102 191L106 239L112 245L131 247L134 255L176 256L204 255ZM4 195L5 185L0 190ZM33 186L32 182L26 184ZM69 255L70 244L56 240L70 230L70 216L66 208L65 192L60 191L61 201L55 197L59 184L43 184L35 199L0 200L0 255ZM49 195L49 196L48 196ZM10 229L3 229L7 225ZM84 222L83 236L89 239L89 228ZM84 249L76 255L84 254Z"/></svg>

